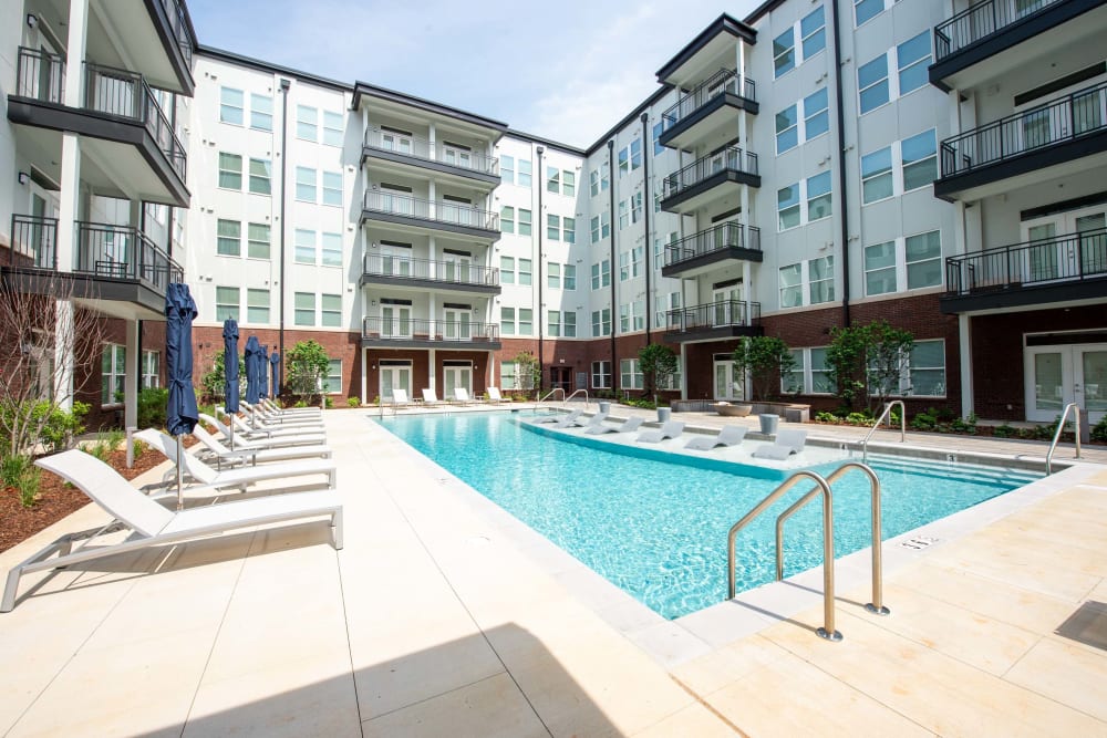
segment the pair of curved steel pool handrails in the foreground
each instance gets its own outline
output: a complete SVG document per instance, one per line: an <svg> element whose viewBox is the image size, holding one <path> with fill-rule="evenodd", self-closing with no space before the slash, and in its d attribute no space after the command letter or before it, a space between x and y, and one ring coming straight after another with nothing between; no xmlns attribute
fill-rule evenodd
<svg viewBox="0 0 1107 738"><path fill-rule="evenodd" d="M880 480L877 474L867 465L860 461L847 461L835 469L830 476L823 477L815 471L806 469L792 475L779 487L769 492L768 497L762 500L753 510L747 512L742 520L731 527L726 538L726 574L727 574L727 600L733 600L735 595L735 552L734 541L738 532L748 526L755 518L764 512L770 505L776 502L785 492L790 490L804 479L815 482L815 488L800 497L787 510L777 516L776 519L776 579L784 579L784 523L800 508L815 499L816 495L823 495L823 627L816 630L819 637L827 641L841 641L841 633L835 630L834 623L834 492L832 485L838 481L850 469L859 469L869 478L869 496L872 500L872 602L865 605L865 609L878 615L887 615L890 611L884 607L882 564L880 560Z"/></svg>

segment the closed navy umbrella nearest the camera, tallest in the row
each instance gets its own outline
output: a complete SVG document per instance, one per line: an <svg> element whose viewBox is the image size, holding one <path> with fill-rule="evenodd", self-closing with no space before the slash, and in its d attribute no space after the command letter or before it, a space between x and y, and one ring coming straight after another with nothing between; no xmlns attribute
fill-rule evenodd
<svg viewBox="0 0 1107 738"><path fill-rule="evenodd" d="M165 370L169 381L166 428L177 437L177 458L184 453L182 436L192 433L199 420L196 389L193 387L193 319L196 302L188 285L172 282L165 292ZM180 496L180 464L177 465L177 509Z"/></svg>

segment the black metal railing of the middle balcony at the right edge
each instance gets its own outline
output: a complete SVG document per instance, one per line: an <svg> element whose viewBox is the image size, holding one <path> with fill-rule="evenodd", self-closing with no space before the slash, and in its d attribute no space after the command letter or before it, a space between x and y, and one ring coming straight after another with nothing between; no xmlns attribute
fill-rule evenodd
<svg viewBox="0 0 1107 738"><path fill-rule="evenodd" d="M1107 83L942 142L942 177L965 174L1107 128Z"/></svg>

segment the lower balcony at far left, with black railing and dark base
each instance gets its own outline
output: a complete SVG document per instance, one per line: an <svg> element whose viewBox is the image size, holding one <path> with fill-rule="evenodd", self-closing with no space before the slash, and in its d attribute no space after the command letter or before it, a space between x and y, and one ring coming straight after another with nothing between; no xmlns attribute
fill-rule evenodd
<svg viewBox="0 0 1107 738"><path fill-rule="evenodd" d="M56 219L12 216L11 235L2 269L19 289L54 290L43 277L62 276L71 280L75 298L110 315L156 319L169 282L185 278L180 264L128 226L79 221L70 270L59 269Z"/></svg>

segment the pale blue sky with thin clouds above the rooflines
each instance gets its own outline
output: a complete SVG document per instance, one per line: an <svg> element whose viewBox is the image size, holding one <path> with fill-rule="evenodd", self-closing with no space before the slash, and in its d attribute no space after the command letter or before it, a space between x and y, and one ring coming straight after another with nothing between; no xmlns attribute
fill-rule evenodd
<svg viewBox="0 0 1107 738"><path fill-rule="evenodd" d="M655 72L724 11L759 0L187 0L199 42L366 82L581 148L658 90Z"/></svg>

